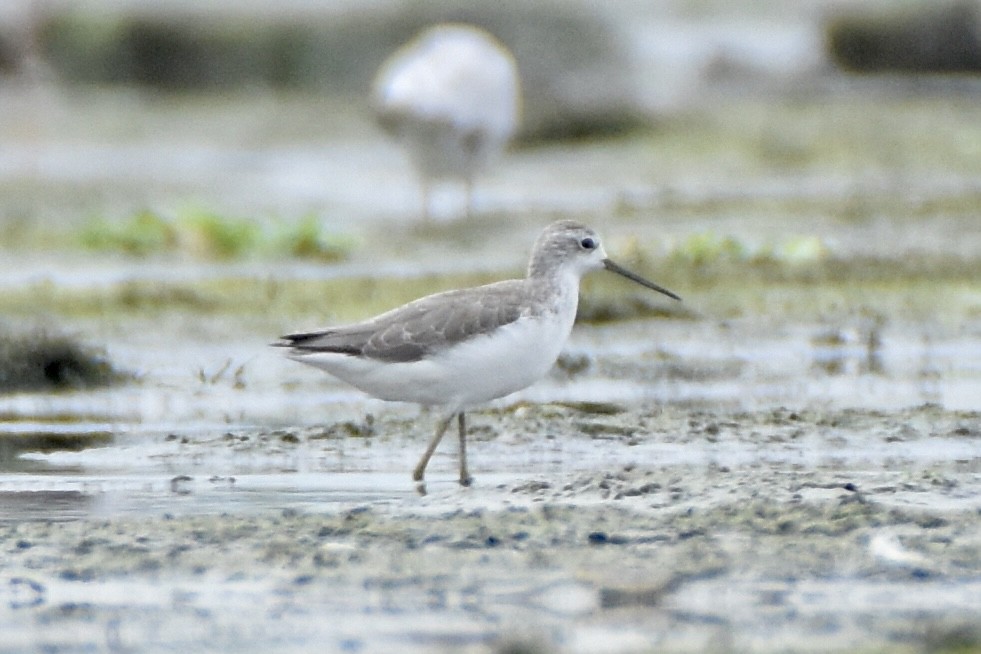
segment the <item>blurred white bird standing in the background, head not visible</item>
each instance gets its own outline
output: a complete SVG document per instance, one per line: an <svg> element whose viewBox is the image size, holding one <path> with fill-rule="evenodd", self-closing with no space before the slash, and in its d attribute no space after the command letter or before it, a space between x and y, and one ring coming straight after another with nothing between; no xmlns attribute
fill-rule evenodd
<svg viewBox="0 0 981 654"><path fill-rule="evenodd" d="M518 71L508 49L471 25L431 27L382 65L374 102L421 178L424 219L433 186L449 180L463 183L469 217L474 177L518 126Z"/></svg>

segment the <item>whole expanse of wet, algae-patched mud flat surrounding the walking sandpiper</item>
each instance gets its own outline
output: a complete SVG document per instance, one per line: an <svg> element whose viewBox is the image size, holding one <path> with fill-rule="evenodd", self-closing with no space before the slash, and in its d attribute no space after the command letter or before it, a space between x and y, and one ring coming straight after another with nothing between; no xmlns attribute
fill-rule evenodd
<svg viewBox="0 0 981 654"><path fill-rule="evenodd" d="M0 397L0 653L981 650L977 85L803 84L518 148L430 226L360 100L5 96L3 321L129 376ZM472 488L266 352L553 217L684 309L587 281Z"/></svg>

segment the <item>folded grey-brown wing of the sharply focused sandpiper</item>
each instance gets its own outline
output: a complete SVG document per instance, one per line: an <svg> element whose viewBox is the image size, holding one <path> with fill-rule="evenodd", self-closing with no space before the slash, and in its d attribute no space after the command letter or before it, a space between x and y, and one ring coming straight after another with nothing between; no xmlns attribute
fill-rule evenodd
<svg viewBox="0 0 981 654"><path fill-rule="evenodd" d="M380 361L412 362L486 334L521 317L521 283L430 295L371 320L319 332L284 336L302 352L338 352Z"/></svg>

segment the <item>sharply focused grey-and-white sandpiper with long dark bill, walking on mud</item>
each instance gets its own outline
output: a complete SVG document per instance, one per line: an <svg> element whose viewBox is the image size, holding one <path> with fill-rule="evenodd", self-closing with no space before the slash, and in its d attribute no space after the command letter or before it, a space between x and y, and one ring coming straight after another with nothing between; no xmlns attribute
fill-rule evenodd
<svg viewBox="0 0 981 654"><path fill-rule="evenodd" d="M596 232L561 220L538 237L524 279L436 293L364 322L283 336L296 361L326 370L368 395L446 411L412 478L455 417L460 484L467 470L465 411L544 377L572 331L583 275L605 268L680 300L611 261Z"/></svg>

